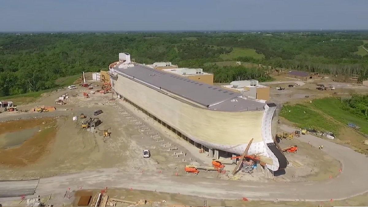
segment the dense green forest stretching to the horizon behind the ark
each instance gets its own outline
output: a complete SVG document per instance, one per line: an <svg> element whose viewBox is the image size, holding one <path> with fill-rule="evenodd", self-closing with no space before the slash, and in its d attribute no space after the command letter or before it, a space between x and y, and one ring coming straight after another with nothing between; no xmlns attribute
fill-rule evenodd
<svg viewBox="0 0 368 207"><path fill-rule="evenodd" d="M179 67L204 68L215 82L272 79L265 69L220 67L242 61L330 75L368 78L367 32L351 33L35 33L0 34L0 96L58 87L60 77L107 70L119 52L137 63L170 61ZM263 58L239 53L254 50ZM235 52L238 53L235 53ZM364 53L364 51L363 51ZM237 56L234 56L237 55Z"/></svg>

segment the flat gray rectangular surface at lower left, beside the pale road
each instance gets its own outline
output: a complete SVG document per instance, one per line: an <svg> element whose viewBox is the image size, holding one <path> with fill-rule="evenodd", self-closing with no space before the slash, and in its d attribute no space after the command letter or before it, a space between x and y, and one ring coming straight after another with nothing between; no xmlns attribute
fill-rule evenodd
<svg viewBox="0 0 368 207"><path fill-rule="evenodd" d="M0 198L35 194L39 179L24 181L0 181Z"/></svg>

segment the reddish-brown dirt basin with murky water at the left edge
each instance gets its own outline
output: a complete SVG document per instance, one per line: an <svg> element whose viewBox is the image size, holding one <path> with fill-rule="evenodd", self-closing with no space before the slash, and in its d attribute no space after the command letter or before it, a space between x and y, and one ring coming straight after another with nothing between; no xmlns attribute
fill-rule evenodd
<svg viewBox="0 0 368 207"><path fill-rule="evenodd" d="M47 154L57 132L56 122L40 118L0 123L0 165L22 167Z"/></svg>

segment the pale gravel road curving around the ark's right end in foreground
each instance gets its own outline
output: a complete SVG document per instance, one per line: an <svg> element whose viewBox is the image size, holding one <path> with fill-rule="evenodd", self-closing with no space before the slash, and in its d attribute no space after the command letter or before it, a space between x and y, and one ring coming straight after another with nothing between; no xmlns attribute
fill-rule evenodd
<svg viewBox="0 0 368 207"><path fill-rule="evenodd" d="M292 128L282 127L286 131ZM368 192L368 158L362 154L340 146L328 140L312 135L302 135L300 140L311 142L314 146L323 145L323 151L340 160L342 173L323 182L302 183L256 183L224 181L196 178L195 175L164 176L158 172L143 173L119 171L116 168L94 172L81 172L40 179L36 195L48 195L55 192L94 188L132 188L137 190L157 190L159 192L179 193L191 196L203 196L217 199L262 200L307 200L329 201L341 200ZM143 169L144 170L144 169ZM20 185L17 185L21 187ZM4 190L0 185L0 190Z"/></svg>

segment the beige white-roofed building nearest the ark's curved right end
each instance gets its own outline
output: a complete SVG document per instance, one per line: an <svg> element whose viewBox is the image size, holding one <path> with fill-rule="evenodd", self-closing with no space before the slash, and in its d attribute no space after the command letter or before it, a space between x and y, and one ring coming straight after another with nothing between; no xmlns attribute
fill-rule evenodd
<svg viewBox="0 0 368 207"><path fill-rule="evenodd" d="M270 100L270 87L259 85L259 82L256 80L233 81L230 85L221 87L254 99Z"/></svg>

